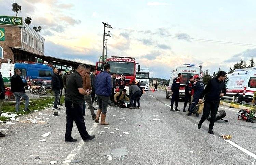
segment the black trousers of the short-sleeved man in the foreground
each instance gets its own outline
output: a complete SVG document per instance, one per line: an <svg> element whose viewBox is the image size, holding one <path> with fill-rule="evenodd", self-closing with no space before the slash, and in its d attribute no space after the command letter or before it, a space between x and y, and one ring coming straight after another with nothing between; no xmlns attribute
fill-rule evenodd
<svg viewBox="0 0 256 165"><path fill-rule="evenodd" d="M82 106L83 104L80 105L80 104L73 103L72 101L65 100L66 115L67 115L66 133L65 133L66 141L70 141L73 139L71 137L71 133L72 133L74 121L77 125L77 129L82 139L86 140L90 137L85 127Z"/></svg>

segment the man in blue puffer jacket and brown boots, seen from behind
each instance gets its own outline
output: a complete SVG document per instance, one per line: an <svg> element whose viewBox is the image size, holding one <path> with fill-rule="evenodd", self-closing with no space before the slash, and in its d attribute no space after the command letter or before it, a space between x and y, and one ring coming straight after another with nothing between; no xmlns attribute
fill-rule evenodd
<svg viewBox="0 0 256 165"><path fill-rule="evenodd" d="M96 76L96 80L95 80L95 93L97 94L98 104L99 104L95 122L99 123L99 117L101 114L100 125L108 125L108 123L105 122L105 119L106 119L108 103L109 103L110 96L112 94L112 87L113 87L112 79L109 74L110 65L106 64L103 70L104 71L102 73L99 73Z"/></svg>

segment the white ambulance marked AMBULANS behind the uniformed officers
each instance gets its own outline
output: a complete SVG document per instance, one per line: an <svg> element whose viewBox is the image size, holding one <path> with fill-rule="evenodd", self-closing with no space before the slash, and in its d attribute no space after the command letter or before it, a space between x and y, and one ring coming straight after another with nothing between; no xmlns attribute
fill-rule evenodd
<svg viewBox="0 0 256 165"><path fill-rule="evenodd" d="M173 79L178 76L179 73L182 73L182 78L180 80L179 88L179 97L185 97L185 84L189 81L190 76L198 75L200 78L203 78L202 65L196 66L196 64L183 64L183 66L176 67L175 70L171 72L169 79L169 86L166 88L166 99L172 96L172 83Z"/></svg>

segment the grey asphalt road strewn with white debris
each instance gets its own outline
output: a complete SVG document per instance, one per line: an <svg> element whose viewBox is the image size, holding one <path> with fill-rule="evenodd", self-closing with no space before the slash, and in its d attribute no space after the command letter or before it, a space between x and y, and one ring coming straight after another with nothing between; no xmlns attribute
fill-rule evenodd
<svg viewBox="0 0 256 165"><path fill-rule="evenodd" d="M197 118L189 117L185 112L170 112L170 101L165 99L163 90L148 91L141 98L141 109L109 107L106 118L110 123L108 126L95 124L87 110L87 130L89 134L96 135L90 142L80 141L82 139L75 124L72 137L77 138L78 142L64 142L65 107L59 110L60 116L57 117L52 116L51 109L46 109L19 118L27 120L39 117L43 118L39 121L46 121L47 124L16 121L12 121L15 125L1 123L0 129L8 129L2 131L8 134L0 138L0 164L49 164L50 161L57 161L56 164L94 165L256 163L256 124L237 120L238 109L220 106L219 109L226 111L225 119L228 122L215 123L215 137L208 134L208 121L203 123L200 130L197 128L201 115ZM182 107L183 102L180 102L179 109L182 110ZM41 137L46 132L52 134ZM233 142L234 146L219 138L221 135L232 135L230 143ZM46 142L39 142L41 139L46 139ZM108 156L97 155L119 147L127 147L128 155L112 156L113 160L108 160ZM36 156L40 159L35 159Z"/></svg>

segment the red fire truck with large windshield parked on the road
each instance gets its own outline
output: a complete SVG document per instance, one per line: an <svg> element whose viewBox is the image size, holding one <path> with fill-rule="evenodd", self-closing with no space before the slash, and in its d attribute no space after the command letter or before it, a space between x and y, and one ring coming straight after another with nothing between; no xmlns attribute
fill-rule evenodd
<svg viewBox="0 0 256 165"><path fill-rule="evenodd" d="M135 61L133 57L120 57L120 56L111 56L105 62L97 62L96 69L97 74L103 71L103 67L105 64L110 65L110 73L116 73L116 81L121 78L121 75L124 75L124 79L126 81L126 86L131 84L132 81L135 81L136 78L136 69L138 73L140 71L140 65ZM136 65L138 67L136 68ZM117 84L118 89L118 84ZM118 90L117 90L118 91Z"/></svg>

